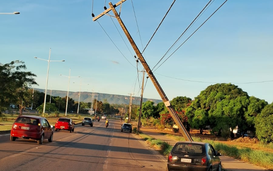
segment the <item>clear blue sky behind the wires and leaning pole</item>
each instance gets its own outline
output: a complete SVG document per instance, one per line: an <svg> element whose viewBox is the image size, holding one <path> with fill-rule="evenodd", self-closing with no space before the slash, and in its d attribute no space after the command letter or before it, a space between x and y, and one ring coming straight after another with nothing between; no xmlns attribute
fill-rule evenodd
<svg viewBox="0 0 273 171"><path fill-rule="evenodd" d="M113 4L117 2L112 1ZM172 2L127 0L122 4L121 19L141 51ZM174 3L144 51L150 68L157 64L208 2L177 0ZM214 1L162 61L223 2ZM95 16L104 11L104 3L104 0L94 0ZM108 3L106 1L107 8ZM271 103L273 82L248 82L273 80L272 8L272 0L228 0L181 48L156 71L153 70L167 97L170 100L177 96L194 98L214 84L201 82L235 83L250 96ZM116 9L119 12L120 6ZM81 76L82 91L120 95L134 92L135 96L140 96L135 52L116 18L112 21L105 15L98 21L122 54L99 23L92 21L92 0L0 1L0 13L14 11L20 14L0 14L0 62L24 61L27 70L37 75L39 86L35 88L45 88L48 63L33 57L48 60L51 48L50 60L65 62L50 62L48 89L67 91L68 78L59 74L68 76L71 68L70 91L80 90L77 76ZM141 64L138 65L139 70L142 68ZM142 74L139 76L141 80ZM160 99L150 79L143 97Z"/></svg>

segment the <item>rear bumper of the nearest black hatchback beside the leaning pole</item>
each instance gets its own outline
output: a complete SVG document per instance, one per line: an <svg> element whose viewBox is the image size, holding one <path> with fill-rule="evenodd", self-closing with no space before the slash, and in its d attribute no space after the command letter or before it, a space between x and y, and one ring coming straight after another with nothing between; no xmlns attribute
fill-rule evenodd
<svg viewBox="0 0 273 171"><path fill-rule="evenodd" d="M196 166L196 165L184 165L184 164L167 164L168 171L208 171L209 167L207 166Z"/></svg>

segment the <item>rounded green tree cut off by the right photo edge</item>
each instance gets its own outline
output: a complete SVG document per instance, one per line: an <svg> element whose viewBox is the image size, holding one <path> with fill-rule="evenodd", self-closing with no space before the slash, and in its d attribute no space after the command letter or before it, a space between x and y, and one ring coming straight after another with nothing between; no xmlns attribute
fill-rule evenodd
<svg viewBox="0 0 273 171"><path fill-rule="evenodd" d="M265 143L273 142L273 103L268 104L255 118L257 138Z"/></svg>

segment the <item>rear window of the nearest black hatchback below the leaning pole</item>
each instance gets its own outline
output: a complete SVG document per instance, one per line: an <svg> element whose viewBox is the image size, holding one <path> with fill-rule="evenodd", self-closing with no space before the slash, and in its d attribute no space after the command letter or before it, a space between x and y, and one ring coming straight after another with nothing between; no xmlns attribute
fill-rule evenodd
<svg viewBox="0 0 273 171"><path fill-rule="evenodd" d="M193 144L193 143L178 143L174 148L173 152L176 153L189 153L189 154L203 154L204 145Z"/></svg>

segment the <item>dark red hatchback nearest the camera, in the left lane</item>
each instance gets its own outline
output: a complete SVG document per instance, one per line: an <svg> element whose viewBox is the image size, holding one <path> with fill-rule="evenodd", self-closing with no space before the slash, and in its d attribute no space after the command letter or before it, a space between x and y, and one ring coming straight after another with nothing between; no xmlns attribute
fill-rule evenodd
<svg viewBox="0 0 273 171"><path fill-rule="evenodd" d="M33 139L42 144L44 139L53 140L53 126L48 120L39 116L21 115L13 123L10 131L10 140L17 138Z"/></svg>

